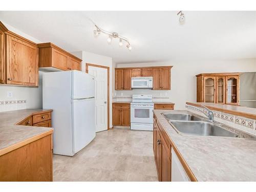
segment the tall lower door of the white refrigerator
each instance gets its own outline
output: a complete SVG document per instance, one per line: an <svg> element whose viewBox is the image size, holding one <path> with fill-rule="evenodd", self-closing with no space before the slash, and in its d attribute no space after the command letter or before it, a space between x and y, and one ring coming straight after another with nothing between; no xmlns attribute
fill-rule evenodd
<svg viewBox="0 0 256 192"><path fill-rule="evenodd" d="M73 152L79 152L96 136L95 99L72 100Z"/></svg>

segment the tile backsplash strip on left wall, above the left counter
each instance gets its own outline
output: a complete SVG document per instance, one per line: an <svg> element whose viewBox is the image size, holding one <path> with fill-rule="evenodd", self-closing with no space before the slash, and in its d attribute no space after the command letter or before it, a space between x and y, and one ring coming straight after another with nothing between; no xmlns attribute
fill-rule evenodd
<svg viewBox="0 0 256 192"><path fill-rule="evenodd" d="M0 101L0 112L27 109L26 100Z"/></svg>

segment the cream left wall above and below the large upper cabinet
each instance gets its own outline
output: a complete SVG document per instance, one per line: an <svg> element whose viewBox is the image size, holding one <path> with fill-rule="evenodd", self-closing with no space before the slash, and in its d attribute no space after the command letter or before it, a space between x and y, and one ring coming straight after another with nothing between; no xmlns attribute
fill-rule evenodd
<svg viewBox="0 0 256 192"><path fill-rule="evenodd" d="M22 31L19 31L12 26L4 23L4 25L10 31L23 36L35 43L40 43L38 39L35 39ZM7 92L12 92L13 97L7 97ZM26 100L26 108L39 109L42 108L42 87L41 87L41 73L39 73L39 86L35 87L20 87L20 86L7 86L6 84L0 84L0 101L5 100Z"/></svg>

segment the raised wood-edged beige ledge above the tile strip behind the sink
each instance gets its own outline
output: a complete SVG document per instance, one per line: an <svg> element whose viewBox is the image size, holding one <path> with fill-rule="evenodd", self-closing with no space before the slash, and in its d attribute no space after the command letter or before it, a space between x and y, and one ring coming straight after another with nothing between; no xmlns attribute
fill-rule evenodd
<svg viewBox="0 0 256 192"><path fill-rule="evenodd" d="M194 106L201 106L203 104L210 110L221 111L232 115L239 115L246 118L256 119L256 108L248 108L247 106L203 102L186 102L186 104Z"/></svg>

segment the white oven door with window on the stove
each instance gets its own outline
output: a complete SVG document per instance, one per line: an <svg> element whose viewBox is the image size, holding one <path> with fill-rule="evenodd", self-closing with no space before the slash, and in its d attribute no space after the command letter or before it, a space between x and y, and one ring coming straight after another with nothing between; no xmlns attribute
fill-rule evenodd
<svg viewBox="0 0 256 192"><path fill-rule="evenodd" d="M132 123L153 123L153 106L131 106Z"/></svg>

